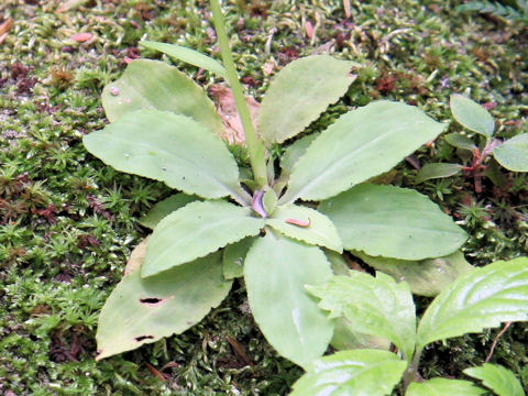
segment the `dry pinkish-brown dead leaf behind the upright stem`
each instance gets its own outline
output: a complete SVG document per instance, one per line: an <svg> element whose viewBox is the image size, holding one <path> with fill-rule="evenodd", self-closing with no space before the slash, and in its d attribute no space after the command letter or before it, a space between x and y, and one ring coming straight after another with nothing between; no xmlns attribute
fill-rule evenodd
<svg viewBox="0 0 528 396"><path fill-rule="evenodd" d="M213 97L217 105L217 112L222 119L224 129L222 138L226 139L229 144L243 143L245 141L244 129L231 89L217 84L209 87L209 94ZM256 130L256 114L260 103L253 97L245 97L245 102L250 109L253 127Z"/></svg>

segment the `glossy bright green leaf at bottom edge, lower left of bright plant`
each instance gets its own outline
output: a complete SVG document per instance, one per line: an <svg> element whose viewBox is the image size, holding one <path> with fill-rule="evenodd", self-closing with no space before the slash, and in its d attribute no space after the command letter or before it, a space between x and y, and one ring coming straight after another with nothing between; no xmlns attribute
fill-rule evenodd
<svg viewBox="0 0 528 396"><path fill-rule="evenodd" d="M290 396L385 396L399 382L407 364L394 353L343 351L314 362L293 386Z"/></svg>

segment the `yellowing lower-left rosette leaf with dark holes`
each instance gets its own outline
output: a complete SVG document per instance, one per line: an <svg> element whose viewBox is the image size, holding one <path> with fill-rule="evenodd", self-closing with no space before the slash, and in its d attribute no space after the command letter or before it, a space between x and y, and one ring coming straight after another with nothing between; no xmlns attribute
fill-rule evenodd
<svg viewBox="0 0 528 396"><path fill-rule="evenodd" d="M97 360L179 334L228 295L220 254L144 279L133 271L113 289L99 316Z"/></svg>

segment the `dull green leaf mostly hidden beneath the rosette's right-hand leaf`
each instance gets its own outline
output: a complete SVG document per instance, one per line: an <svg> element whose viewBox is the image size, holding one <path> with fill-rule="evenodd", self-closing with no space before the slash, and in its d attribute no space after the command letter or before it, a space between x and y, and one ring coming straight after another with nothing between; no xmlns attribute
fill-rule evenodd
<svg viewBox="0 0 528 396"><path fill-rule="evenodd" d="M428 297L437 296L461 274L473 268L460 251L443 257L420 261L372 257L362 252L353 254L375 270L391 275L395 280L407 282L414 294Z"/></svg>

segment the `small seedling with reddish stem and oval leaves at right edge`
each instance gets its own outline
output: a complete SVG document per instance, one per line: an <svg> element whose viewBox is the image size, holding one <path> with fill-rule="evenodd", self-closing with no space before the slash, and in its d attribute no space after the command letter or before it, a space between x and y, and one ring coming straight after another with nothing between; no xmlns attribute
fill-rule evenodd
<svg viewBox="0 0 528 396"><path fill-rule="evenodd" d="M482 176L487 168L486 162L491 156L508 170L528 172L528 133L518 134L505 142L493 139L495 121L492 114L473 100L453 94L450 100L453 118L465 129L479 135L485 136L485 144L479 147L474 141L460 133L446 135L446 141L461 151L462 157L469 158L469 163L449 164L435 163L425 165L416 176L416 183L428 179L449 177L464 173L473 176L475 191L482 191Z"/></svg>

